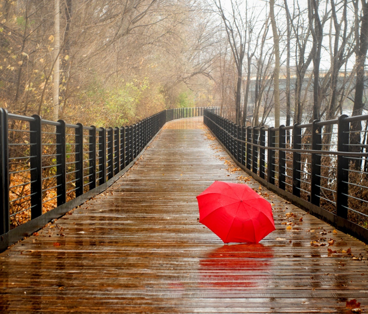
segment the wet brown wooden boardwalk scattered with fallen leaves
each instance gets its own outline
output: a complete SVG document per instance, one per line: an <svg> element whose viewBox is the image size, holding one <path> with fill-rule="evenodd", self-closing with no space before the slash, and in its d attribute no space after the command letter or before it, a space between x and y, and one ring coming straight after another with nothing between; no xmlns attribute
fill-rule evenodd
<svg viewBox="0 0 368 314"><path fill-rule="evenodd" d="M105 193L0 254L0 312L367 311L367 246L246 177L200 120L167 124ZM276 231L224 245L197 221L215 180L262 193Z"/></svg>

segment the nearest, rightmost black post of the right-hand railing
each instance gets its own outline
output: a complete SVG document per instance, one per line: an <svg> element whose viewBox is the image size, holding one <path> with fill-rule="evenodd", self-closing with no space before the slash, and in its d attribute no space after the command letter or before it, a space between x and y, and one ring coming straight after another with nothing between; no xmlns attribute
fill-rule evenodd
<svg viewBox="0 0 368 314"><path fill-rule="evenodd" d="M337 130L337 151L349 151L349 123L344 119L348 116L343 114L339 117ZM349 159L337 155L336 176L336 215L347 219L348 190L349 190Z"/></svg>

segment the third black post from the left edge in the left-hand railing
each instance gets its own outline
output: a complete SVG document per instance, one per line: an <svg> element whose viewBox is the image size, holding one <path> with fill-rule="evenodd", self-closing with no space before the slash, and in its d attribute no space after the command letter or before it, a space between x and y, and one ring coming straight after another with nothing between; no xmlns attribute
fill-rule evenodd
<svg viewBox="0 0 368 314"><path fill-rule="evenodd" d="M67 173L66 173L66 127L65 121L57 121L56 126L56 184L57 184L57 206L67 201Z"/></svg>

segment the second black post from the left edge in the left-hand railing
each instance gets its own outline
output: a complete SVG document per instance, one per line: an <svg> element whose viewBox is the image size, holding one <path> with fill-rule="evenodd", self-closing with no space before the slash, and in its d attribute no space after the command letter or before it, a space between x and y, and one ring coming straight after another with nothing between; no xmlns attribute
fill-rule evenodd
<svg viewBox="0 0 368 314"><path fill-rule="evenodd" d="M41 117L37 114L29 123L31 143L31 219L42 215L42 134Z"/></svg>

